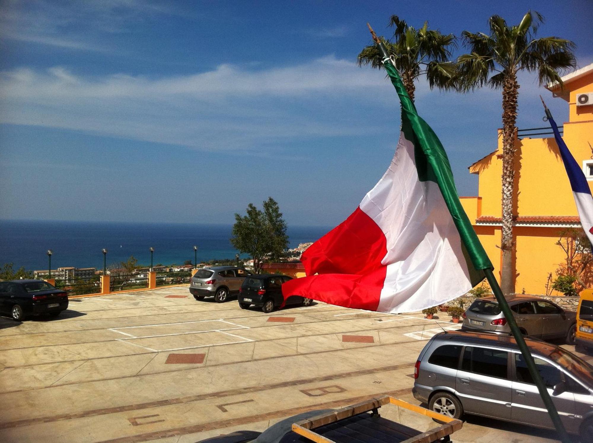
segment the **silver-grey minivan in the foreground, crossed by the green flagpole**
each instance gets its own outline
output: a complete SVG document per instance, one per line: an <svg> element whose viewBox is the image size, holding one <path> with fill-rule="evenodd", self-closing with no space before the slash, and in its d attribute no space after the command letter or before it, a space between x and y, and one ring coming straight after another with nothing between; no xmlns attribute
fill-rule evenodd
<svg viewBox="0 0 593 443"><path fill-rule="evenodd" d="M593 442L593 367L561 347L525 341L566 430ZM416 400L449 417L465 412L553 428L513 337L436 334L420 352L414 378Z"/></svg>

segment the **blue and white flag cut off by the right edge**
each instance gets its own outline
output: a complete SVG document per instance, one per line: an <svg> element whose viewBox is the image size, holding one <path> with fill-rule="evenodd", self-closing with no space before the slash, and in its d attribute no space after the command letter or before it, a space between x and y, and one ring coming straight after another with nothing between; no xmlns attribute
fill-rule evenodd
<svg viewBox="0 0 593 443"><path fill-rule="evenodd" d="M572 188L572 195L575 197L576 210L579 213L581 225L585 230L587 237L589 238L589 242L591 242L591 251L593 252L593 197L591 196L589 183L585 178L583 170L579 164L576 163L575 157L572 156L568 150L568 147L566 147L566 143L564 143L564 140L562 140L562 136L558 131L558 126L556 125L556 122L554 122L554 119L552 118L552 115L547 107L546 116L550 122L552 130L554 131L554 138L556 138L556 143L558 144L558 149L560 150L560 157L562 157L562 162L564 163L566 173L568 174L570 188Z"/></svg>

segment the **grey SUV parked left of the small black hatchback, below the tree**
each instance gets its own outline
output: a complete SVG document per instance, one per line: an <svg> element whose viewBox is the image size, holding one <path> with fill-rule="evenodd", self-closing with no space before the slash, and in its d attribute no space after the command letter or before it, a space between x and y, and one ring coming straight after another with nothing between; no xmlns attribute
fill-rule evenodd
<svg viewBox="0 0 593 443"><path fill-rule="evenodd" d="M213 296L219 302L225 302L231 295L237 295L245 277L251 273L244 268L234 266L215 266L197 271L190 281L189 292L196 300Z"/></svg>

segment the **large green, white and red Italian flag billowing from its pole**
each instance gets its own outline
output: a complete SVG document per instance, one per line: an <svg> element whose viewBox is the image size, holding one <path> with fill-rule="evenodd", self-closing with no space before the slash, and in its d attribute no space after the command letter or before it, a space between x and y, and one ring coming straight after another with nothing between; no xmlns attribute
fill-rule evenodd
<svg viewBox="0 0 593 443"><path fill-rule="evenodd" d="M417 114L396 68L389 59L383 64L401 102L396 153L358 208L304 252L307 277L283 284L285 299L411 312L463 295L492 268L441 142Z"/></svg>

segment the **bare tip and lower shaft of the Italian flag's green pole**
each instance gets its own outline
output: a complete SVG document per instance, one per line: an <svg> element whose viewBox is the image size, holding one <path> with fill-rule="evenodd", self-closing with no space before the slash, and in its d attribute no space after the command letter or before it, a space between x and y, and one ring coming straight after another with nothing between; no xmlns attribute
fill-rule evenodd
<svg viewBox="0 0 593 443"><path fill-rule="evenodd" d="M390 56L389 56L389 53L387 52L387 48L385 48L385 45L383 44L383 42L381 42L381 40L377 37L377 34L375 34L375 32L372 30L371 25L369 25L367 23L367 26L369 27L369 30L371 31L373 40L375 40L375 43L377 43L377 46L381 50L381 53L383 55L383 64L385 64L385 65L391 64ZM395 72L397 72L397 70L395 70ZM404 94L407 96L407 93L404 92ZM486 279L488 280L488 283L490 284L490 287L492 288L492 292L494 293L494 296L495 296L496 300L498 301L498 305L500 306L500 309L502 310L502 313L505 316L506 321L508 322L509 328L511 328L511 332L512 332L513 336L515 337L515 341L517 341L517 346L519 347L519 350L521 351L521 355L525 359L525 363L527 363L527 369L529 369L529 372L531 374L531 379L533 379L533 381L535 382L535 385L537 386L537 390L540 393L541 400L543 400L544 405L546 406L546 409L548 410L548 413L550 414L550 419L552 420L552 423L554 424L554 428L556 428L556 431L558 432L558 434L560 436L560 440L563 443L572 443L572 439L570 439L570 437L569 437L568 433L566 432L566 429L562 423L562 420L560 420L560 416L558 415L556 406L554 406L554 403L550 398L550 394L548 393L546 385L544 384L544 381L541 378L540 373L537 371L537 367L535 366L535 361L533 359L533 356L531 355L531 352L530 352L529 348L527 347L527 343L525 343L523 334L521 334L521 331L519 330L519 327L517 326L517 322L515 321L515 317L513 316L512 312L511 312L511 308L509 308L509 305L506 302L505 296L503 295L502 290L500 290L500 286L498 284L498 281L496 281L494 274L492 273L492 269L486 268L483 271L484 271L484 274L486 275Z"/></svg>

